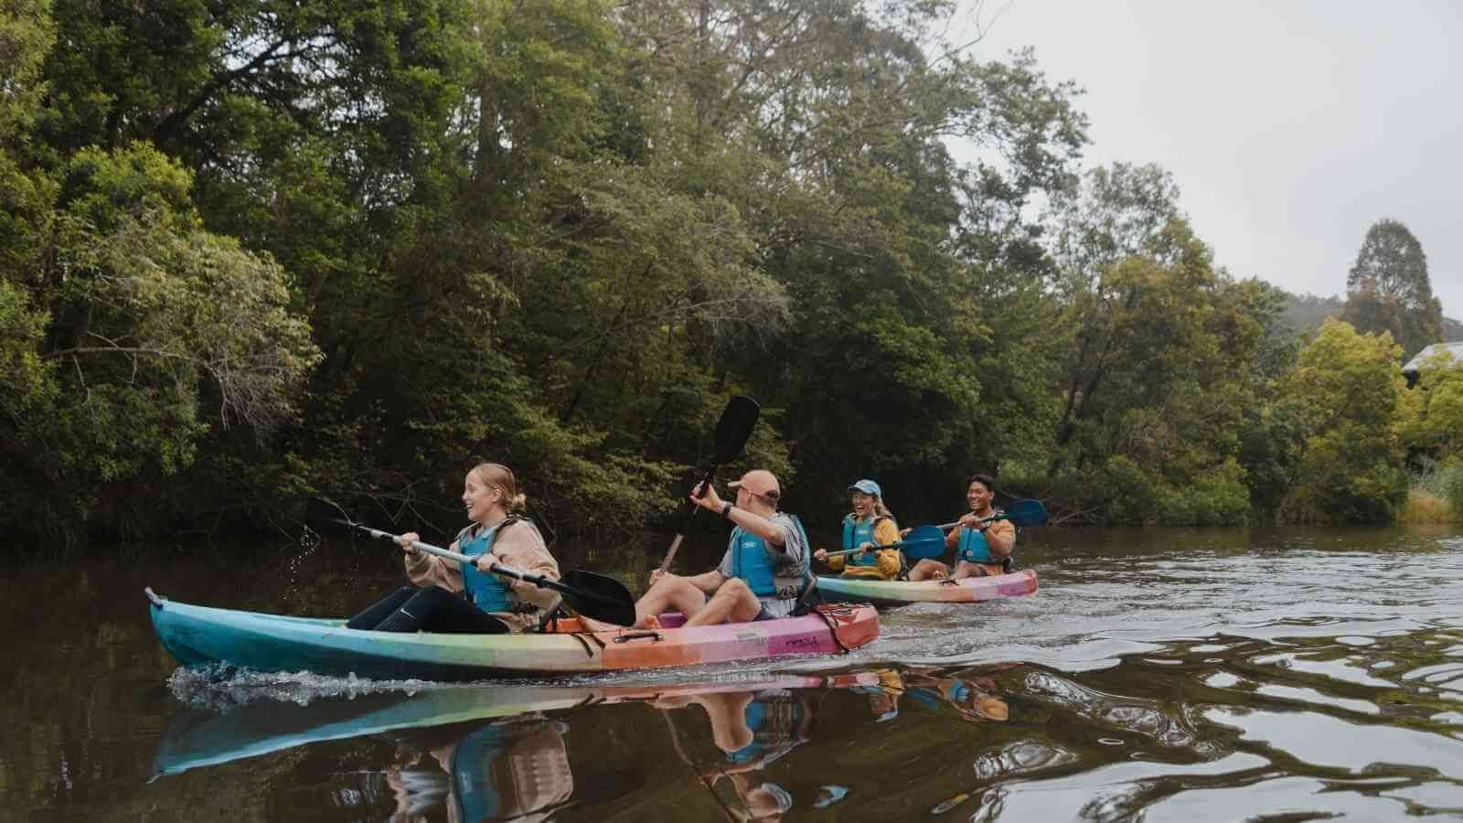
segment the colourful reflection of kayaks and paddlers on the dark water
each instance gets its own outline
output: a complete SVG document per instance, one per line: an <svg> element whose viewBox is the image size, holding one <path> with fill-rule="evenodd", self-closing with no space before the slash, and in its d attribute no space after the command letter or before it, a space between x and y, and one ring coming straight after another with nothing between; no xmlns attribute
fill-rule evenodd
<svg viewBox="0 0 1463 823"><path fill-rule="evenodd" d="M303 693L250 681L217 700L176 688L193 707L170 722L155 770L178 775L278 754L247 769L316 770L312 783L335 786L334 795L294 795L290 802L320 802L322 814L356 814L350 819L672 813L686 801L677 781L699 783L699 814L717 808L734 822L834 805L862 813L891 788L879 775L904 772L910 741L957 740L939 715L980 723L1009 716L995 682L1009 678L993 679L995 671L879 668L579 687L414 684L418 691L364 681L357 688L366 693L347 696L323 694L315 681ZM983 747L1004 745L1008 737L988 737ZM284 754L328 741L336 745L304 759ZM622 748L666 751L667 744L686 767L679 778L664 763L652 766L655 759L604 757ZM208 775L193 785L212 782Z"/></svg>

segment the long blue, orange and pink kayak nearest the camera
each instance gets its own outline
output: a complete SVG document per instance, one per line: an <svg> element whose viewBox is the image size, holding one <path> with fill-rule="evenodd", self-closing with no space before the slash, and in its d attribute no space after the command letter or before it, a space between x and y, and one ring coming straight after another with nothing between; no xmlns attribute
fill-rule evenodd
<svg viewBox="0 0 1463 823"><path fill-rule="evenodd" d="M183 666L230 663L265 672L309 671L369 678L480 679L691 666L825 655L879 634L872 608L824 606L761 622L579 631L560 621L544 634L360 631L344 619L297 618L180 603L154 595L158 640ZM679 615L674 615L679 617ZM663 625L674 625L672 615Z"/></svg>

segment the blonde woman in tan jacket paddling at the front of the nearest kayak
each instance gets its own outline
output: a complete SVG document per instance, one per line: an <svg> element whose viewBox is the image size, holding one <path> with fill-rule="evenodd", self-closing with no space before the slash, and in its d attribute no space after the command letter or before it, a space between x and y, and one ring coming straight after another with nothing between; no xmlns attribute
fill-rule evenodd
<svg viewBox="0 0 1463 823"><path fill-rule="evenodd" d="M475 562L464 567L411 548L415 532L396 539L405 552L404 586L347 622L373 631L437 631L502 634L537 625L559 595L533 583L493 574L494 564L559 580L559 564L524 508L514 472L500 463L480 463L462 480L462 507L473 521L458 532L451 549Z"/></svg>

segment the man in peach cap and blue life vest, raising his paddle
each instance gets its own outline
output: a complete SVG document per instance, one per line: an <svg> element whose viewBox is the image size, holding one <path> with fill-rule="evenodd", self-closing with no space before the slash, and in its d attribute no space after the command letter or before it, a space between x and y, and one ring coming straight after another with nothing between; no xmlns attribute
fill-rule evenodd
<svg viewBox="0 0 1463 823"><path fill-rule="evenodd" d="M686 615L686 625L784 618L808 595L808 535L796 517L777 511L777 477L755 469L730 485L734 502L711 485L701 496L691 494L692 502L734 526L721 564L691 577L652 571L650 590L635 602L636 628L654 625L663 612Z"/></svg>

